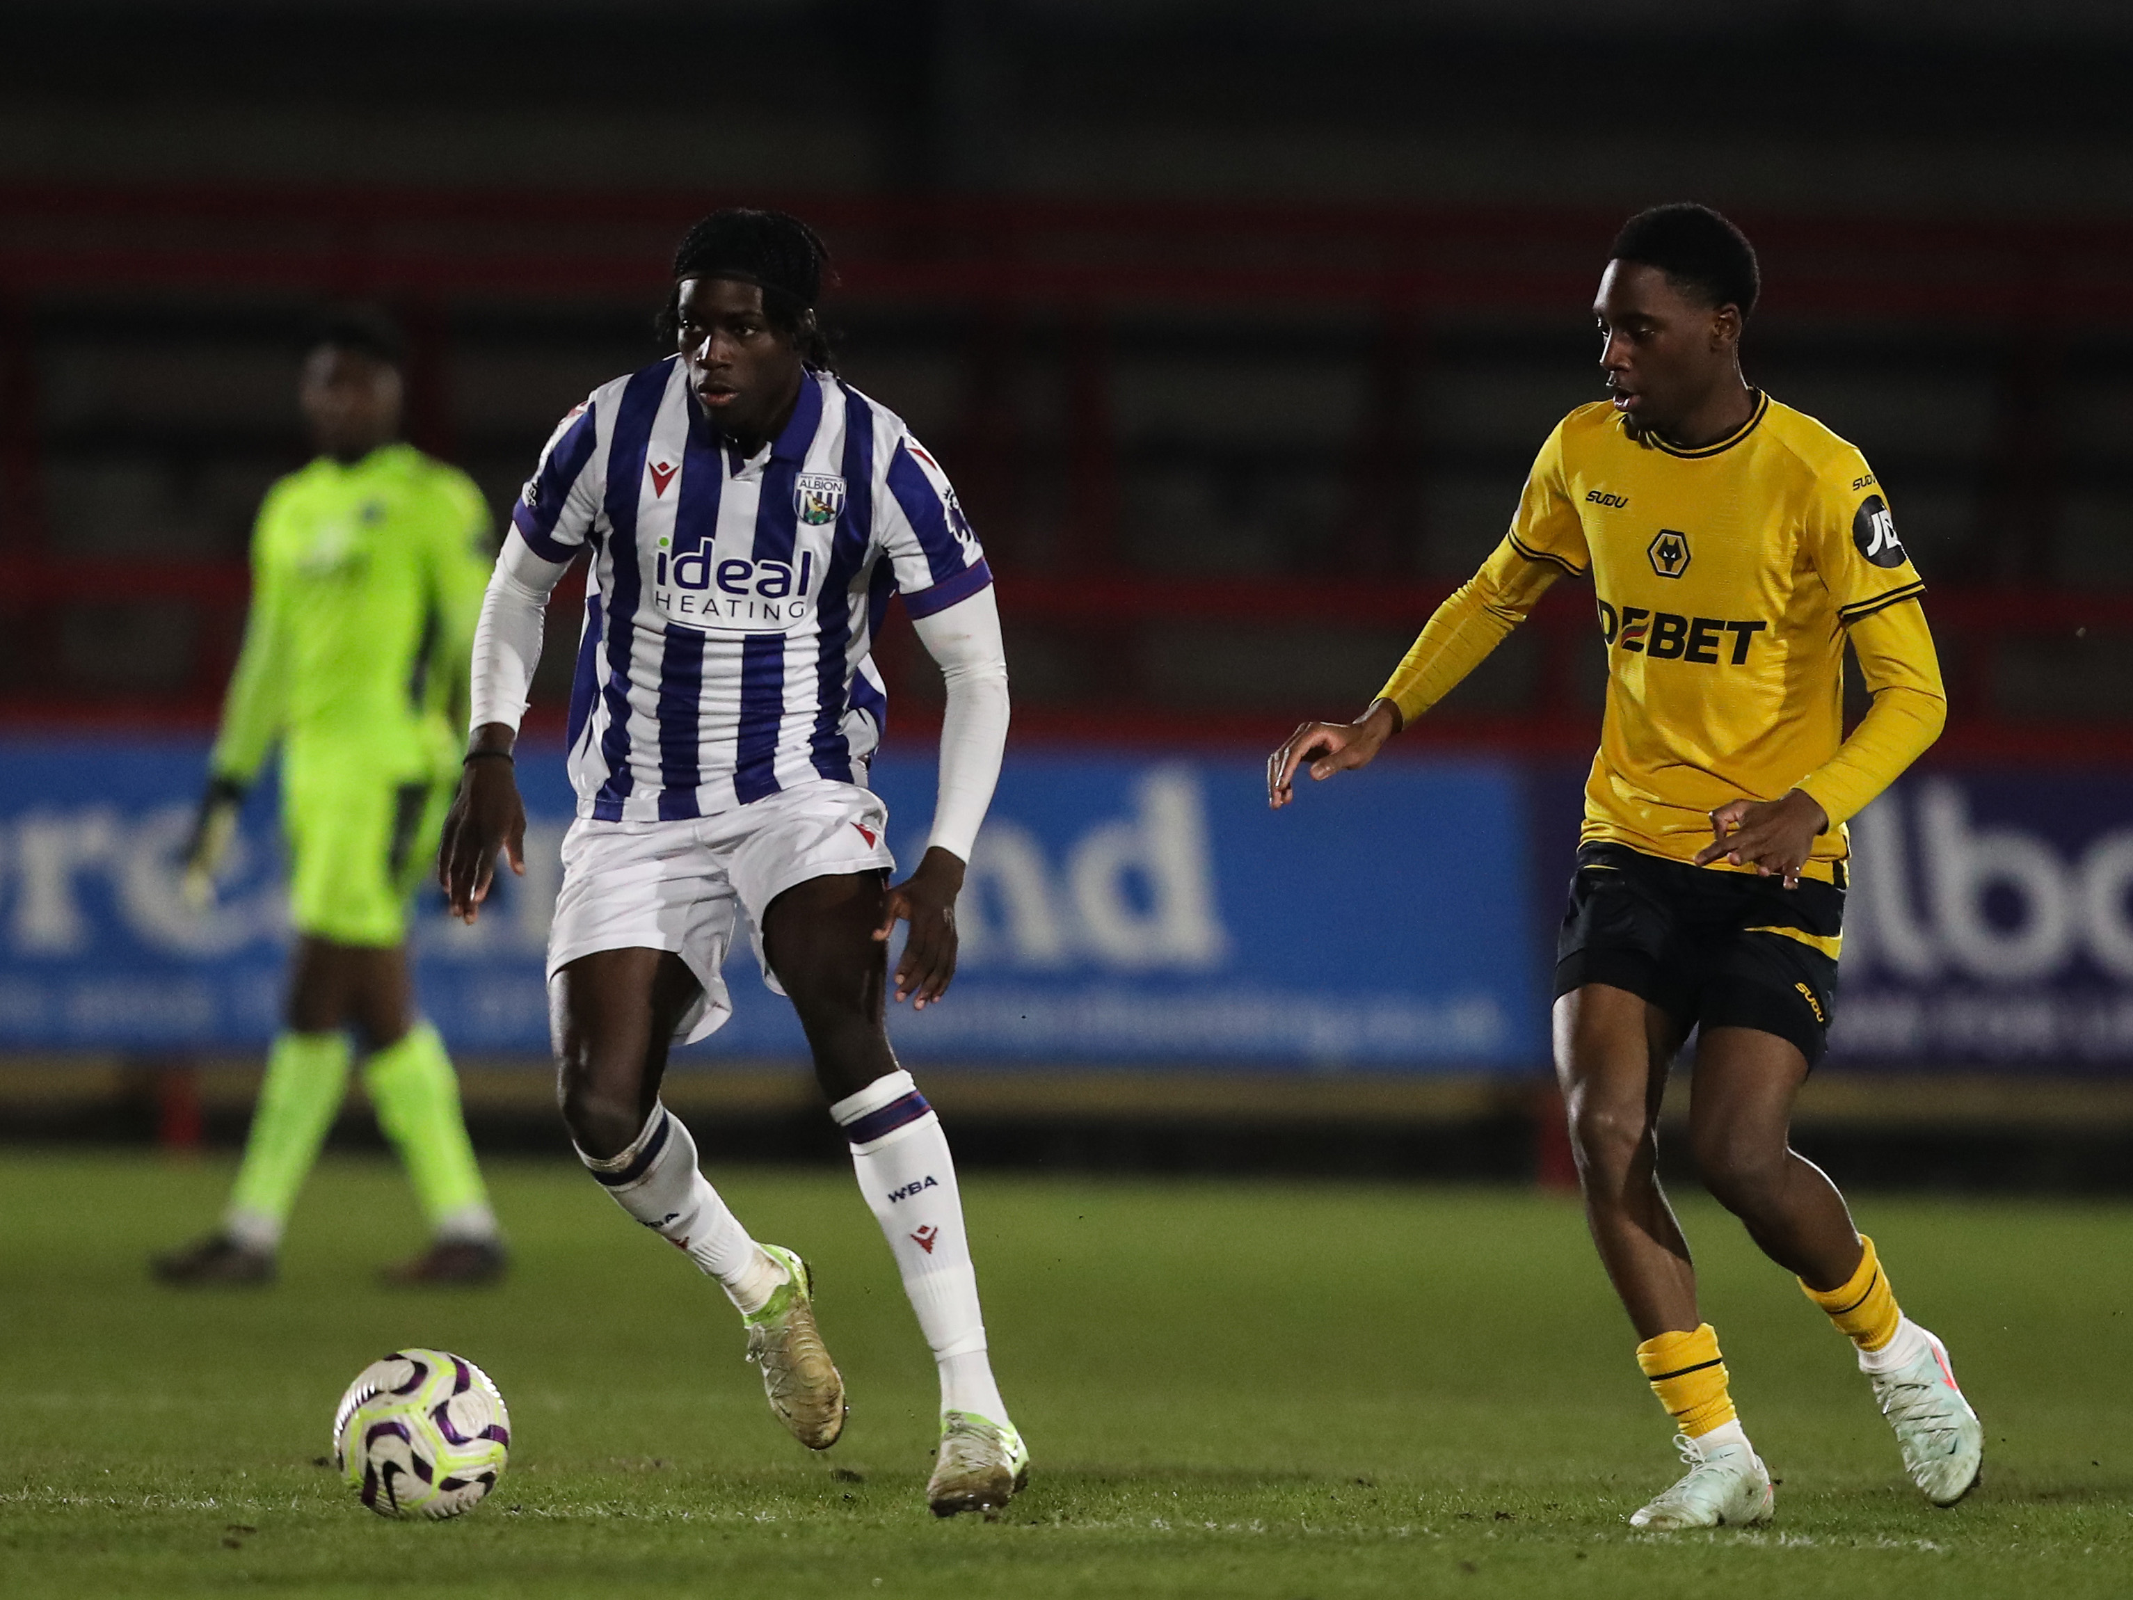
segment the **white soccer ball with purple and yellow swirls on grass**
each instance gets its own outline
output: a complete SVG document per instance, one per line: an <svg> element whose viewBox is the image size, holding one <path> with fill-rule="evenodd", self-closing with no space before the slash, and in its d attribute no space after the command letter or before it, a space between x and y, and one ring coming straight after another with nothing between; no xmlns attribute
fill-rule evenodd
<svg viewBox="0 0 2133 1600"><path fill-rule="evenodd" d="M512 1419L488 1374L450 1350L395 1350L333 1412L341 1478L380 1517L456 1517L497 1487Z"/></svg>

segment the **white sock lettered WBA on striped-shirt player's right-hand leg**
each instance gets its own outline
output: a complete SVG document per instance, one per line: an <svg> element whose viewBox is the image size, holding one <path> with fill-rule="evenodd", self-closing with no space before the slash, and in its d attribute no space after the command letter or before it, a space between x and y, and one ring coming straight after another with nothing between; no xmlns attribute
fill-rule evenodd
<svg viewBox="0 0 2133 1600"><path fill-rule="evenodd" d="M947 1135L911 1073L887 1073L830 1107L851 1141L875 1220L889 1239L919 1331L941 1370L941 1410L968 1410L994 1423L1007 1406L985 1357L985 1318L977 1306L971 1239Z"/></svg>

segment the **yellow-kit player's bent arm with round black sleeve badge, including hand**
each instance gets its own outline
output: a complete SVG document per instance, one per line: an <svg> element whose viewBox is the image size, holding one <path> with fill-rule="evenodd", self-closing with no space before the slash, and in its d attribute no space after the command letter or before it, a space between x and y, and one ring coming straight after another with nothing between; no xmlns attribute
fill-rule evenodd
<svg viewBox="0 0 2133 1600"><path fill-rule="evenodd" d="M1856 452L1826 474L1807 548L1837 619L1851 636L1873 706L1837 753L1777 800L1732 800L1711 813L1713 843L1696 862L1728 860L1787 887L1815 838L1856 817L1941 736L1947 689L1920 595L1924 580L1896 538L1888 501Z"/></svg>

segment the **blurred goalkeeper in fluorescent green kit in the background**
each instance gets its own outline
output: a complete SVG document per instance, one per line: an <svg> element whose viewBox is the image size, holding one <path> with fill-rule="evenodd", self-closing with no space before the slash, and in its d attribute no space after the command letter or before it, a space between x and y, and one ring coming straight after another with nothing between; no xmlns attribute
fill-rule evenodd
<svg viewBox="0 0 2133 1600"><path fill-rule="evenodd" d="M407 977L407 902L437 853L493 559L474 482L399 442L401 346L333 318L299 399L318 459L277 482L252 535L252 614L186 858L205 902L267 753L282 747L296 951L243 1169L222 1227L158 1257L171 1284L262 1284L363 1052L363 1086L433 1233L403 1284L503 1271L459 1079Z"/></svg>

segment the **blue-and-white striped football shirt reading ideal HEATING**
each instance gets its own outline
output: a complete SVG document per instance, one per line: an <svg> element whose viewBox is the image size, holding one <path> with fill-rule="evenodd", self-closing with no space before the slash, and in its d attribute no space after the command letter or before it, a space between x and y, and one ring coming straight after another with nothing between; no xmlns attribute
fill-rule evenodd
<svg viewBox="0 0 2133 1600"><path fill-rule="evenodd" d="M548 439L512 525L546 561L591 546L570 779L578 815L604 821L866 783L889 595L930 617L992 582L902 418L815 371L749 461L678 356L602 384Z"/></svg>

